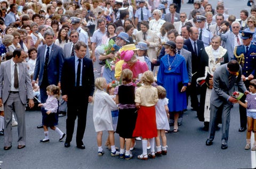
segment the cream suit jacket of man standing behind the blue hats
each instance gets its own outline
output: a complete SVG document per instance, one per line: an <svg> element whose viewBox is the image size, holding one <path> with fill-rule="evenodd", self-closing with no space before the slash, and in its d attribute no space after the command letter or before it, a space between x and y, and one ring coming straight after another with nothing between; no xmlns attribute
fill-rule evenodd
<svg viewBox="0 0 256 169"><path fill-rule="evenodd" d="M136 33L136 41L137 43L143 40L143 32L140 30ZM148 46L148 57L150 61L155 58L156 59L156 47L160 45L159 43L159 38L157 36L157 33L153 30L148 30L147 31L147 39L146 41L149 41L149 46Z"/></svg>

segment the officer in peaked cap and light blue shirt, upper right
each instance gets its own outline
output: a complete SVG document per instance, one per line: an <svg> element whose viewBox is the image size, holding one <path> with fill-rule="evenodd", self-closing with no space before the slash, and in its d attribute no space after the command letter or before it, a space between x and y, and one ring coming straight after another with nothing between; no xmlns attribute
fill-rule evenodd
<svg viewBox="0 0 256 169"><path fill-rule="evenodd" d="M204 47L210 46L212 33L205 28L206 17L202 15L196 15L196 27L199 31L198 39L204 42Z"/></svg>

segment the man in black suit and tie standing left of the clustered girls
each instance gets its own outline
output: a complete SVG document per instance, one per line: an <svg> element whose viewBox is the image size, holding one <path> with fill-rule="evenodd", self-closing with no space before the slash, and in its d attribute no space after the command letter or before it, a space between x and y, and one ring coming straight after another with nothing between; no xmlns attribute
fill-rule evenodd
<svg viewBox="0 0 256 169"><path fill-rule="evenodd" d="M92 102L94 92L94 75L92 60L85 57L86 44L78 41L75 45L76 55L63 63L61 73L62 99L68 105L67 138L65 147L70 147L75 120L77 121L76 146L85 149L83 143L88 102Z"/></svg>

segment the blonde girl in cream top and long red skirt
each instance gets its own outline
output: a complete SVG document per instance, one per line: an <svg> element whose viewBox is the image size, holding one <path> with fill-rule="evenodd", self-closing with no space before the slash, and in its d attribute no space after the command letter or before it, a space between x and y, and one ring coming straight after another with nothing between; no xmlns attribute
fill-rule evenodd
<svg viewBox="0 0 256 169"><path fill-rule="evenodd" d="M135 105L138 108L138 117L133 131L133 137L142 137L143 153L139 159L155 158L155 137L157 137L155 105L158 102L157 89L151 84L154 82L154 74L151 71L143 73L143 86L135 91ZM147 154L147 139L151 145L151 153Z"/></svg>

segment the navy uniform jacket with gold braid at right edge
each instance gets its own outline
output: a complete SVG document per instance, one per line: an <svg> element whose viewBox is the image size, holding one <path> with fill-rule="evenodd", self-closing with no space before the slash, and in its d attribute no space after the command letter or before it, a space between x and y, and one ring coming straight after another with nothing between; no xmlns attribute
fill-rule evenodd
<svg viewBox="0 0 256 169"><path fill-rule="evenodd" d="M245 77L248 77L250 74L254 75L255 79L255 69L256 69L256 46L251 44L248 53L245 53L244 45L240 45L236 47L236 55L239 56L244 54L244 65L242 66L242 73ZM237 58L234 56L234 59ZM237 60L239 62L239 60Z"/></svg>

